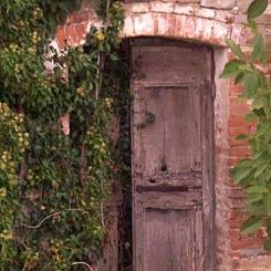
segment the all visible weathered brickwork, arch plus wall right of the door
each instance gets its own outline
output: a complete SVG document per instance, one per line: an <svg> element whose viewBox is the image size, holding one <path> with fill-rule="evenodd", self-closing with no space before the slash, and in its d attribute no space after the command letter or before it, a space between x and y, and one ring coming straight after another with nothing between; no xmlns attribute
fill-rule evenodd
<svg viewBox="0 0 271 271"><path fill-rule="evenodd" d="M209 44L216 64L215 139L216 139L216 201L217 259L220 271L268 271L271 256L262 246L263 232L252 237L239 233L246 219L241 212L244 195L233 186L229 169L249 155L249 147L234 138L239 133L252 133L253 124L244 122L250 104L237 97L242 92L231 81L219 79L225 63L232 58L225 40L230 38L249 50L251 35L242 27L249 0L164 0L124 4L125 27L122 38L163 37ZM92 4L73 13L65 25L58 29L55 41L60 49L84 43L91 25L101 25ZM259 19L260 28L271 44L271 4ZM271 46L269 46L271 52Z"/></svg>

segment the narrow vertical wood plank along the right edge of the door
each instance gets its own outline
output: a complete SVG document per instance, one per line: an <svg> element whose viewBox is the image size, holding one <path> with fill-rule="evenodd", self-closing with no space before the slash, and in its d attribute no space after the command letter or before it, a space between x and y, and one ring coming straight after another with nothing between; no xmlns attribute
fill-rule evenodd
<svg viewBox="0 0 271 271"><path fill-rule="evenodd" d="M204 69L205 64L205 69ZM201 60L202 72L202 197L204 197L204 247L205 247L205 270L213 270L215 259L215 184L213 184L213 85L211 81L211 50L205 50ZM209 71L206 74L206 71Z"/></svg>

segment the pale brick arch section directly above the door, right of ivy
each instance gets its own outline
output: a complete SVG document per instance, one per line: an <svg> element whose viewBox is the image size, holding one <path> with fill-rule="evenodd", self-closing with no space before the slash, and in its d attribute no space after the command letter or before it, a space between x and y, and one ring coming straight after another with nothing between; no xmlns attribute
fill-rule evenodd
<svg viewBox="0 0 271 271"><path fill-rule="evenodd" d="M225 40L231 35L229 24L213 20L215 11L176 6L171 12L169 9L163 12L166 7L167 3L163 3L146 13L128 12L123 35L184 39L218 46L223 46Z"/></svg>

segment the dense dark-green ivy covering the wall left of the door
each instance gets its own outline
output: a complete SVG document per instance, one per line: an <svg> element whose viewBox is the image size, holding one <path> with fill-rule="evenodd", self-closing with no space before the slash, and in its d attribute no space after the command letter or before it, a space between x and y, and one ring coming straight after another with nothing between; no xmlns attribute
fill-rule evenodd
<svg viewBox="0 0 271 271"><path fill-rule="evenodd" d="M129 100L122 4L101 2L104 28L92 28L84 46L50 46L80 4L0 2L1 271L90 269L106 239L104 199L128 173L111 136Z"/></svg>

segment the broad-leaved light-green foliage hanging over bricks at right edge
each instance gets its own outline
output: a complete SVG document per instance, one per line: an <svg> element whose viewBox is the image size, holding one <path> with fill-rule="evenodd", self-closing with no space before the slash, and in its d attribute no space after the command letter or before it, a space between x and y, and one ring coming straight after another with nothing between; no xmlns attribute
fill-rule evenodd
<svg viewBox="0 0 271 271"><path fill-rule="evenodd" d="M232 169L234 183L244 187L247 194L244 211L249 218L241 231L250 234L264 227L265 249L271 251L271 71L264 38L256 22L267 7L268 0L254 0L248 9L247 27L253 35L250 54L242 52L232 40L227 41L236 59L225 66L222 77L234 77L236 84L243 84L240 98L252 102L247 121L257 126L253 134L238 136L240 140L248 140L251 157Z"/></svg>

